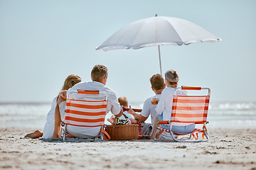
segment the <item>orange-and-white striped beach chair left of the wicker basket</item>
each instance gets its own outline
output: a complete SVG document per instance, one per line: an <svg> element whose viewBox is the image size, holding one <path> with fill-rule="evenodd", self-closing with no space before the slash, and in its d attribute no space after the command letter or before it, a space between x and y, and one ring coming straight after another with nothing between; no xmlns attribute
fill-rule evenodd
<svg viewBox="0 0 256 170"><path fill-rule="evenodd" d="M62 123L63 137L73 137L68 134L67 126L95 128L100 127L101 139L110 140L110 136L104 130L105 115L107 110L107 94L101 91L69 91L66 101L65 120Z"/></svg>

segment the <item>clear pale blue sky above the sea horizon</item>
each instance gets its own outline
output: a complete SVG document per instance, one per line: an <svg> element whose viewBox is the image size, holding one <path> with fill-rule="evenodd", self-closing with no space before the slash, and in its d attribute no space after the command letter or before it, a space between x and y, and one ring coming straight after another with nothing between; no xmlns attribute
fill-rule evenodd
<svg viewBox="0 0 256 170"><path fill-rule="evenodd" d="M0 102L50 102L65 77L90 81L95 64L109 69L107 86L129 101L153 95L157 47L96 51L116 30L158 13L183 18L222 42L161 47L163 72L178 85L208 86L211 101L256 101L256 1L0 0Z"/></svg>

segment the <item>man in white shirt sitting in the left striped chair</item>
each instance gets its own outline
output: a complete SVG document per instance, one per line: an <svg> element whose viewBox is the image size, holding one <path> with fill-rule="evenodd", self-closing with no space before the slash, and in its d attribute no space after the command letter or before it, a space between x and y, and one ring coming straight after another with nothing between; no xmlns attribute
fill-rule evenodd
<svg viewBox="0 0 256 170"><path fill-rule="evenodd" d="M107 83L107 67L103 65L95 65L92 68L91 72L91 79L90 82L82 82L79 84L75 84L70 90L90 90L90 91L104 91L107 93L107 111L111 111L111 113L118 118L123 114L122 108L119 105L117 100L117 95L112 91L110 88L106 87L105 84ZM57 103L62 103L67 98L67 91L61 91L60 97L58 98ZM61 110L61 109L60 109ZM62 109L63 110L63 109ZM52 138L58 138L60 132L60 116L65 114L65 111L55 111L55 129L53 132ZM96 128L82 128L82 127L75 127L73 125L68 125L67 127L68 133L70 135L74 135L76 137L94 137L100 132L100 127Z"/></svg>

